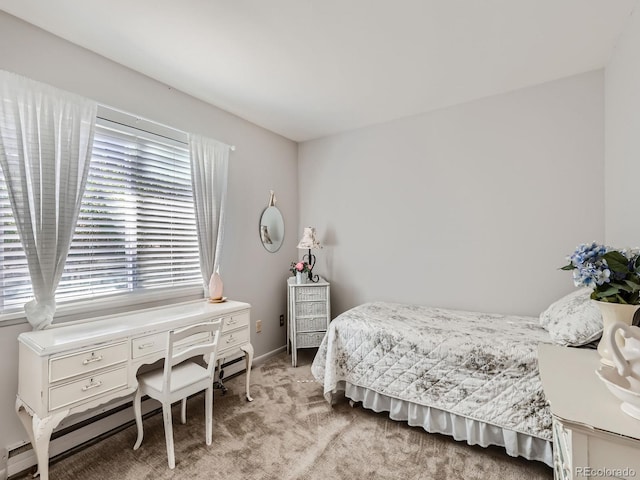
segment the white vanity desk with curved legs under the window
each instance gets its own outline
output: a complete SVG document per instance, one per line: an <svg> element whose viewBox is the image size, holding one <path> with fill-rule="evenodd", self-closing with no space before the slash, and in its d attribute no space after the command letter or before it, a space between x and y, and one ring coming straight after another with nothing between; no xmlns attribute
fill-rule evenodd
<svg viewBox="0 0 640 480"><path fill-rule="evenodd" d="M167 332L174 328L224 318L218 358L244 352L251 401L250 308L248 303L202 299L20 334L16 411L35 450L41 478L48 479L49 441L55 427L68 415L135 392L138 368L163 358Z"/></svg>

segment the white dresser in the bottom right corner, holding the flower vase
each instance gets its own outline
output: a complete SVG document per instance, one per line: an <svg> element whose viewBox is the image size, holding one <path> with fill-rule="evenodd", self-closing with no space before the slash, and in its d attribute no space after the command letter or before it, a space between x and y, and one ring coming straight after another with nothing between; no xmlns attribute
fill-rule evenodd
<svg viewBox="0 0 640 480"><path fill-rule="evenodd" d="M640 478L640 420L598 378L596 350L539 346L540 375L553 414L557 480Z"/></svg>

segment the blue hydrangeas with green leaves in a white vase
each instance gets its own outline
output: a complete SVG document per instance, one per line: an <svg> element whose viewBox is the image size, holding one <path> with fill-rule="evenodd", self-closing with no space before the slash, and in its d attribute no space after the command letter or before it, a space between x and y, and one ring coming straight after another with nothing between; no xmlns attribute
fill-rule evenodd
<svg viewBox="0 0 640 480"><path fill-rule="evenodd" d="M615 322L626 325L640 308L640 250L614 249L595 242L578 245L568 258L569 264L562 270L573 270L576 287L592 288L591 299L602 313L602 338L598 344L600 361L613 366L609 348L609 334ZM618 346L624 345L619 333L615 334Z"/></svg>

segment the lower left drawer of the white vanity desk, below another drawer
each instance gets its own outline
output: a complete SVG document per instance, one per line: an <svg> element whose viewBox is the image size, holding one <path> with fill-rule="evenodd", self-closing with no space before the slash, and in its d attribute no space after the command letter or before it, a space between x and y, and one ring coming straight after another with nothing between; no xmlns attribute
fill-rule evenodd
<svg viewBox="0 0 640 480"><path fill-rule="evenodd" d="M126 388L127 367L100 372L49 389L49 410L82 403L112 390Z"/></svg>

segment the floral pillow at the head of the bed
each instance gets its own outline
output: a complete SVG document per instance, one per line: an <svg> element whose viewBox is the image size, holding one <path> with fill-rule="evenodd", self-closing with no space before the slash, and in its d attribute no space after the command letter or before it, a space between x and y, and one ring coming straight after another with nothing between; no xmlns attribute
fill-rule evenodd
<svg viewBox="0 0 640 480"><path fill-rule="evenodd" d="M591 291L590 288L576 290L540 314L540 325L555 343L578 347L602 336L602 315L589 298Z"/></svg>

